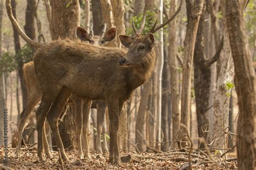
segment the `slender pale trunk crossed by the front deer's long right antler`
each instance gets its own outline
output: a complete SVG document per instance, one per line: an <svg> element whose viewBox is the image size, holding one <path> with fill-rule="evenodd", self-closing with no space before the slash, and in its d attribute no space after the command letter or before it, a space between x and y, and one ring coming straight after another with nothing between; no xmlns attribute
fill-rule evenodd
<svg viewBox="0 0 256 170"><path fill-rule="evenodd" d="M172 16L177 8L177 1L171 0L170 14ZM179 112L179 73L177 62L177 47L176 47L176 30L177 30L177 18L174 18L170 22L169 30L169 67L170 67L170 86L171 86L171 107L172 107L172 137L176 136L180 129L180 112ZM176 139L173 139L176 140ZM172 147L177 148L177 143L174 143Z"/></svg>

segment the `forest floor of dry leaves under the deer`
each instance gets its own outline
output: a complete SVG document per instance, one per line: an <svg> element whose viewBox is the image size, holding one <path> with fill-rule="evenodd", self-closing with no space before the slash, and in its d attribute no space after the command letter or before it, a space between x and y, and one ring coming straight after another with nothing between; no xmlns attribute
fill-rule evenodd
<svg viewBox="0 0 256 170"><path fill-rule="evenodd" d="M1 153L2 152L2 153ZM53 151L53 159L47 159L46 162L39 162L37 159L36 148L30 148L30 150L23 150L21 159L15 159L15 150L11 148L8 152L8 167L3 164L3 148L0 148L0 169L56 169L61 168L59 164L58 152ZM136 153L121 152L122 165L114 166L107 162L108 155L100 155L95 152L91 152L91 159L79 160L77 158L76 151L66 151L69 157L69 162L63 164L66 169L84 169L84 168L149 168L149 169L187 169L189 167L189 155L191 157L192 168L224 168L225 160L223 158L216 158L214 156L208 156L206 151L193 150L189 154L188 149L172 150L163 153ZM2 166L2 168L1 168ZM226 155L226 168L237 168L237 158L231 155Z"/></svg>

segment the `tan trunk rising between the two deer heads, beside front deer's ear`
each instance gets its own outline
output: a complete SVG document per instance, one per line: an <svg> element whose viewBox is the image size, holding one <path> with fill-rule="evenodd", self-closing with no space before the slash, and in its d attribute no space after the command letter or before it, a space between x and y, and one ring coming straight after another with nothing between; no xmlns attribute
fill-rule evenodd
<svg viewBox="0 0 256 170"><path fill-rule="evenodd" d="M124 1L123 0L111 0L112 9L113 9L113 18L114 26L117 28L117 35L125 34L125 25L124 25ZM121 47L120 39L117 37L117 47Z"/></svg>

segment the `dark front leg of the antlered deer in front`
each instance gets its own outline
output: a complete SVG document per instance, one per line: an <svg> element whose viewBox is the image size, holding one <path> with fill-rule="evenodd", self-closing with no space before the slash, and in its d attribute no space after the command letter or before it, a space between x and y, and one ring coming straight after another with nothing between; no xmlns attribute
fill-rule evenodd
<svg viewBox="0 0 256 170"><path fill-rule="evenodd" d="M118 151L118 102L119 100L108 98L107 105L109 107L109 119L110 119L110 153L109 161L111 164L121 165L121 159Z"/></svg>

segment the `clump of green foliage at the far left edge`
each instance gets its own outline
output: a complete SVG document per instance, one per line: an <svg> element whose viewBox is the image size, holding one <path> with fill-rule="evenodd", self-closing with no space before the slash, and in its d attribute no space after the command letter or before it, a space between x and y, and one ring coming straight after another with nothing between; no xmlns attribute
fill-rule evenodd
<svg viewBox="0 0 256 170"><path fill-rule="evenodd" d="M17 68L17 62L15 55L6 52L2 54L1 60L0 60L0 73L4 72L12 72Z"/></svg>

